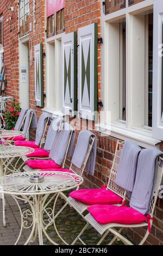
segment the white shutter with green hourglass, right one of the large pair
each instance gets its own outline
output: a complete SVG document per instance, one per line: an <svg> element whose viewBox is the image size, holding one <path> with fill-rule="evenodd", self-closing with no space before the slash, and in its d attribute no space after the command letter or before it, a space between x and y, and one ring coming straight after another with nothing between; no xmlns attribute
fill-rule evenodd
<svg viewBox="0 0 163 256"><path fill-rule="evenodd" d="M78 30L78 111L95 120L97 111L97 23Z"/></svg>

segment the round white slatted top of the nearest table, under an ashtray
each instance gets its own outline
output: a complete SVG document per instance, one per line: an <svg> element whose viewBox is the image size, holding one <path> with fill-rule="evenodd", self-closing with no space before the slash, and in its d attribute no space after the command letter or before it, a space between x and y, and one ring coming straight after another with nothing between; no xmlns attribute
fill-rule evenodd
<svg viewBox="0 0 163 256"><path fill-rule="evenodd" d="M39 174L44 177L41 183L32 183L29 178ZM63 172L24 172L6 175L0 178L0 193L30 196L59 193L71 190L83 183L82 176Z"/></svg>

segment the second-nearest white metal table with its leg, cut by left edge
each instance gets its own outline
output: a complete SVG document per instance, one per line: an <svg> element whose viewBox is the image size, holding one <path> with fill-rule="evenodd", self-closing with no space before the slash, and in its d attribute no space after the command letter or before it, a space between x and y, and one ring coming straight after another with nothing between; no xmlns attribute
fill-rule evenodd
<svg viewBox="0 0 163 256"><path fill-rule="evenodd" d="M29 148L29 147L19 147L19 146L14 146L14 145L9 145L9 146L2 146L0 147L0 176L6 175L8 172L14 173L16 172L16 165L12 166L12 169L9 168L9 165L11 162L15 159L15 157L21 157L24 155L28 155L30 153L33 153L34 149ZM3 160L4 159L9 159L9 161L6 163ZM4 199L4 194L2 193L2 203L3 203L3 225L4 227L6 226L6 221L5 221L5 199Z"/></svg>

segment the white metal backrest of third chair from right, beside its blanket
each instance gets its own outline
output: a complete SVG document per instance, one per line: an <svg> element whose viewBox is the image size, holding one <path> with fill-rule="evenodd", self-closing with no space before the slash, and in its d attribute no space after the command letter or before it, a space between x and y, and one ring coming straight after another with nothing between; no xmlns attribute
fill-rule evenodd
<svg viewBox="0 0 163 256"><path fill-rule="evenodd" d="M87 148L87 153L86 153L86 156L85 156L85 159L84 159L82 167L78 168L73 163L71 163L70 170L72 170L72 172L74 172L74 173L76 173L76 174L78 174L80 176L83 175L85 167L86 167L86 163L87 163L87 161L89 159L89 156L90 156L90 153L91 153L91 150L92 150L92 147L93 147L93 143L95 142L95 139L96 138L94 136L91 136L90 141L89 141L89 146Z"/></svg>

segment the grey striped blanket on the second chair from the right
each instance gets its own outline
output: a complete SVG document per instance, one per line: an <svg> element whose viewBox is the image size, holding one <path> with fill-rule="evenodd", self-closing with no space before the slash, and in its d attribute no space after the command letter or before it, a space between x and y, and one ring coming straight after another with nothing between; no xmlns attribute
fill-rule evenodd
<svg viewBox="0 0 163 256"><path fill-rule="evenodd" d="M124 142L116 175L116 184L132 192L135 183L137 160L141 148L131 141Z"/></svg>

